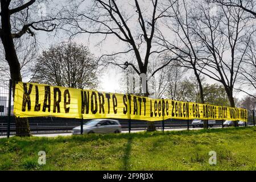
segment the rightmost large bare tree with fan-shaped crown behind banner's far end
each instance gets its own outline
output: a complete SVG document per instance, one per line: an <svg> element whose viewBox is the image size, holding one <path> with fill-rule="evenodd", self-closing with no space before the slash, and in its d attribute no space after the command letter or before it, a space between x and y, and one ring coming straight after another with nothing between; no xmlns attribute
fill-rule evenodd
<svg viewBox="0 0 256 182"><path fill-rule="evenodd" d="M201 44L200 68L202 73L221 82L235 107L233 90L241 63L253 35L250 20L241 8L218 6L205 1L193 13L192 30ZM201 70L200 70L201 71Z"/></svg>

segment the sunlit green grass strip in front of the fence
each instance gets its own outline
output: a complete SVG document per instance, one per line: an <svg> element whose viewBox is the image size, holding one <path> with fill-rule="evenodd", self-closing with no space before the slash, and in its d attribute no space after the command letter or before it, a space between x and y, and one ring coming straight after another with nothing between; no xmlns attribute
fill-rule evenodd
<svg viewBox="0 0 256 182"><path fill-rule="evenodd" d="M46 151L46 165L38 152ZM217 152L210 165L209 151ZM0 139L0 170L256 170L256 127Z"/></svg>

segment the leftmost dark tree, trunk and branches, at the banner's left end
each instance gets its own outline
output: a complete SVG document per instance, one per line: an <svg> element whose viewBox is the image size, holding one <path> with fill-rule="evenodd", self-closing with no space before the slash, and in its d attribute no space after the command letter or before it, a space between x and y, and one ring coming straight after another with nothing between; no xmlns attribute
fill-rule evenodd
<svg viewBox="0 0 256 182"><path fill-rule="evenodd" d="M10 77L13 82L22 81L20 73L20 61L15 48L15 39L20 39L24 35L35 36L35 31L51 32L58 24L53 20L58 19L58 13L46 13L44 16L37 16L39 3L48 1L20 1L20 0L1 0L1 27L0 38L5 51L5 59L9 64ZM49 11L49 9L48 9ZM56 11L55 12L59 12ZM15 84L13 84L13 92ZM14 95L13 95L14 97ZM28 119L15 119L16 135L30 136Z"/></svg>

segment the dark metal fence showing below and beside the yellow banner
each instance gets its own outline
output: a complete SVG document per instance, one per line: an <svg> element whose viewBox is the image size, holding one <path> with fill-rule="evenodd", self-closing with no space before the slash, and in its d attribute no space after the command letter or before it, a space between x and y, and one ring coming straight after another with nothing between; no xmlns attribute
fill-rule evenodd
<svg viewBox="0 0 256 182"><path fill-rule="evenodd" d="M0 137L16 134L15 117L13 115L13 97L11 81L0 80ZM56 136L90 133L132 133L147 130L147 121L132 119L68 119L56 117L28 118L31 134L34 136ZM195 127L192 120L167 119L154 122L156 130L192 130ZM255 126L255 111L249 110L249 122L242 126ZM208 128L224 127L224 121L208 123Z"/></svg>

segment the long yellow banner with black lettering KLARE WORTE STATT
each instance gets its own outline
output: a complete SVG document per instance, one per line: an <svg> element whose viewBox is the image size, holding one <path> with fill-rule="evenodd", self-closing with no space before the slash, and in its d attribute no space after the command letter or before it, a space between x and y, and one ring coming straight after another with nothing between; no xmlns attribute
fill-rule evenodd
<svg viewBox="0 0 256 182"><path fill-rule="evenodd" d="M14 114L16 117L145 121L170 118L247 121L246 109L23 82L15 85Z"/></svg>

